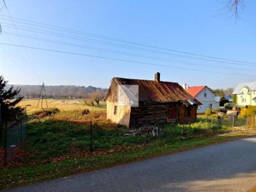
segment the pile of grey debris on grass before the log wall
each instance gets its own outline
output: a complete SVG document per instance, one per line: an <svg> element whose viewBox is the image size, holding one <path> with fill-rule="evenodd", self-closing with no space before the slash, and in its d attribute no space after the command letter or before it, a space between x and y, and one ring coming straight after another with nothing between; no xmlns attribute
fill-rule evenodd
<svg viewBox="0 0 256 192"><path fill-rule="evenodd" d="M142 135L152 135L158 137L160 135L161 129L156 125L143 125L135 130L130 130L129 133L124 134L124 136L142 136Z"/></svg>

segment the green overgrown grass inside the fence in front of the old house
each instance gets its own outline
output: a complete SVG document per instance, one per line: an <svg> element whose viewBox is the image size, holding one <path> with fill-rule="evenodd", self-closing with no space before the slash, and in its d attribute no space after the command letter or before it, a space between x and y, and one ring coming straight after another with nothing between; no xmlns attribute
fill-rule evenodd
<svg viewBox="0 0 256 192"><path fill-rule="evenodd" d="M56 114L58 115L58 114ZM93 150L108 150L118 146L143 145L161 141L190 140L212 136L217 132L216 124L196 122L191 125L165 125L161 128L160 138L152 136L124 136L128 132L125 127L112 124L93 124ZM29 135L24 142L22 157L24 163L40 162L59 156L76 157L90 152L90 124L81 124L54 118L35 120L29 124ZM20 159L16 159L20 162ZM15 163L15 162L14 162Z"/></svg>

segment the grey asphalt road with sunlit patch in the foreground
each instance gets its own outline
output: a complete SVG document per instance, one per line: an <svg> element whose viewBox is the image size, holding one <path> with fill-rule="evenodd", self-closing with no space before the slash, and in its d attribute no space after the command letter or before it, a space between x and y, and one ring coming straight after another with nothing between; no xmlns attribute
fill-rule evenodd
<svg viewBox="0 0 256 192"><path fill-rule="evenodd" d="M253 186L256 186L256 137L10 191L247 191Z"/></svg>

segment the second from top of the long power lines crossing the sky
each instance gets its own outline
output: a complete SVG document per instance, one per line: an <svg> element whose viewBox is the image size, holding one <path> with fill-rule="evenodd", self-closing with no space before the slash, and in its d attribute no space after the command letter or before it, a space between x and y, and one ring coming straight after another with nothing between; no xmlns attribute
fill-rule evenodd
<svg viewBox="0 0 256 192"><path fill-rule="evenodd" d="M8 23L4 23L4 24L8 24ZM12 26L6 26L6 27L13 28ZM44 35L59 36L59 37L69 38L69 39L72 39L72 40L81 40L81 41L84 41L84 42L92 42L92 43L95 43L95 44L111 45L111 46L116 46L116 47L122 47L122 48L125 48L125 49L146 51L146 52L152 52L152 53L157 53L157 54L168 54L168 55L172 55L172 56L180 56L182 58L191 58L191 59L194 59L194 60L211 61L211 62L225 63L225 64L237 64L235 62L209 60L209 59L205 59L205 58L195 58L193 56L174 54L174 53L171 53L171 52L154 51L154 50L151 50L151 49L143 49L143 48L140 48L140 47L132 47L132 46L123 45L123 44L113 44L111 42L104 42L104 41L95 40L95 39L91 39L91 38L81 38L79 36L66 35L66 34L63 34L63 33L55 33L55 32L52 32L52 31L45 31L45 30L42 30L42 29L28 28L28 27L24 27L24 26L20 26L20 27L21 28L19 28L19 29L24 30L24 31L40 33L40 34L44 34ZM28 28L28 29L26 29L26 28ZM239 63L239 65L246 65L246 64ZM255 65L248 65L248 66L255 66Z"/></svg>

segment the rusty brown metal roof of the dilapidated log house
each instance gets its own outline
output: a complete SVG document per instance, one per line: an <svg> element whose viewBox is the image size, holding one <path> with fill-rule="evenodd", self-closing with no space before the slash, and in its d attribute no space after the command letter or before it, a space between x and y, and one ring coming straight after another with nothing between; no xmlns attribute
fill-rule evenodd
<svg viewBox="0 0 256 192"><path fill-rule="evenodd" d="M126 79L114 77L112 79L106 100L116 101L116 86L121 84L138 84L139 101L144 102L188 102L195 100L196 104L201 104L195 97L190 95L179 83L166 81L152 81L143 79Z"/></svg>

